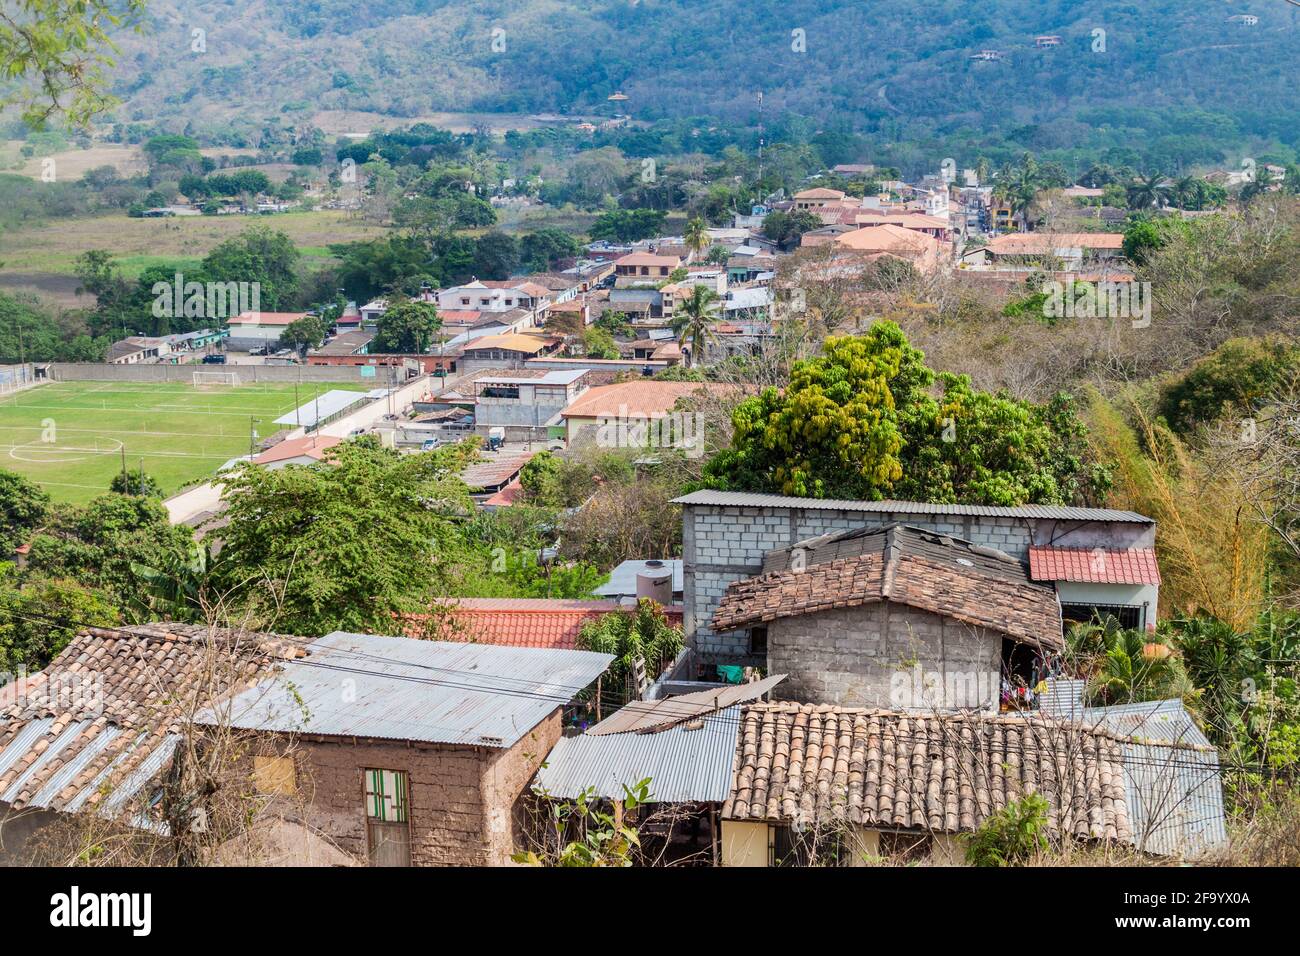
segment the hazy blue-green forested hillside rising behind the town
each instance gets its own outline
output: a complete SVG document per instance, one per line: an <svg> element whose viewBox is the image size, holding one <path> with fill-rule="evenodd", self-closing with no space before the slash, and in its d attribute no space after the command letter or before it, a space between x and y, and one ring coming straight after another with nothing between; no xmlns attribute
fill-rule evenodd
<svg viewBox="0 0 1300 956"><path fill-rule="evenodd" d="M1284 0L152 0L122 40L117 118L256 140L318 111L608 111L755 121L835 117L885 140L1014 133L1214 161L1294 147ZM1230 22L1236 14L1260 22ZM196 30L203 31L195 34ZM1097 31L1104 31L1097 33ZM1040 49L1037 35L1062 38ZM311 56L302 52L311 44ZM976 61L982 49L1001 61ZM815 129L815 126L814 126ZM176 131L179 131L176 130Z"/></svg>

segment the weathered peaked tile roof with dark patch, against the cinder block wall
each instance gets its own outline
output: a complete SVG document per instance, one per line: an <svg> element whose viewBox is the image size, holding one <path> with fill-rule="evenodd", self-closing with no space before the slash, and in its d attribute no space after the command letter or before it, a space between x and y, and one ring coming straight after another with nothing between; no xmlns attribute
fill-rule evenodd
<svg viewBox="0 0 1300 956"><path fill-rule="evenodd" d="M1035 646L1063 646L1056 591L1034 584L1014 558L959 538L897 524L859 529L770 551L763 571L727 588L715 631L893 601Z"/></svg>

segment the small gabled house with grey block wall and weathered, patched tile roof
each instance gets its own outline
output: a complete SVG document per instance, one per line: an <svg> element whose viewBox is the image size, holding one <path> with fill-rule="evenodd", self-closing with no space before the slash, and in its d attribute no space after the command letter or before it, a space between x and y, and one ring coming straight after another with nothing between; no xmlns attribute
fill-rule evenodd
<svg viewBox="0 0 1300 956"><path fill-rule="evenodd" d="M896 710L994 711L1004 662L1065 646L1056 592L1018 559L897 524L770 551L712 624L749 630L789 675L780 698Z"/></svg>

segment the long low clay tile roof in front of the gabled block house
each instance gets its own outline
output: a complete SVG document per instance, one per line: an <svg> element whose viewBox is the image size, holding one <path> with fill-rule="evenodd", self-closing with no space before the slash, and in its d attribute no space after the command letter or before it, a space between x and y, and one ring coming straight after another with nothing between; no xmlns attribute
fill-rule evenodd
<svg viewBox="0 0 1300 956"><path fill-rule="evenodd" d="M1028 792L1053 835L1131 842L1113 735L1040 717L744 708L725 819L970 832Z"/></svg>

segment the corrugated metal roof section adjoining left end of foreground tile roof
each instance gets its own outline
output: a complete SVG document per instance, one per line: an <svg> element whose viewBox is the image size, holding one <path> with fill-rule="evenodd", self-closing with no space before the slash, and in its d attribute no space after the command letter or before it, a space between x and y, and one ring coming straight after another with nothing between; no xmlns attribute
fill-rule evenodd
<svg viewBox="0 0 1300 956"><path fill-rule="evenodd" d="M619 799L624 786L649 778L654 803L722 803L731 793L740 706L702 723L696 730L679 724L658 734L564 737L537 773L534 790L562 800L589 790Z"/></svg>

